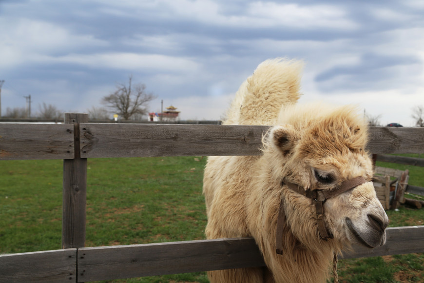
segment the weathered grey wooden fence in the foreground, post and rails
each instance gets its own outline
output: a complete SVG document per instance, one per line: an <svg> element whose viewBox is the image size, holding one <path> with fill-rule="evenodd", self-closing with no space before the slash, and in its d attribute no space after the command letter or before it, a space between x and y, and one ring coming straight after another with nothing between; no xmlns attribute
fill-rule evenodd
<svg viewBox="0 0 424 283"><path fill-rule="evenodd" d="M89 282L264 266L251 238L84 247L87 158L259 155L269 126L0 123L0 160L63 159L61 250L0 255L0 282ZM372 127L374 154L424 153L424 128ZM384 246L342 258L424 252L424 226L387 228ZM407 239L407 241L405 241Z"/></svg>

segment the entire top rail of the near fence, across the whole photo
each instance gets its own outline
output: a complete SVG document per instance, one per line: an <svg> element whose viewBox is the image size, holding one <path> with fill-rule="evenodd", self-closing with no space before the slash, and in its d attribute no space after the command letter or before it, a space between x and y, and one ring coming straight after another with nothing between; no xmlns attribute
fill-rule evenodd
<svg viewBox="0 0 424 283"><path fill-rule="evenodd" d="M260 155L270 126L80 123L81 158ZM0 160L73 159L72 124L0 123ZM371 153L423 153L424 128L370 127Z"/></svg>

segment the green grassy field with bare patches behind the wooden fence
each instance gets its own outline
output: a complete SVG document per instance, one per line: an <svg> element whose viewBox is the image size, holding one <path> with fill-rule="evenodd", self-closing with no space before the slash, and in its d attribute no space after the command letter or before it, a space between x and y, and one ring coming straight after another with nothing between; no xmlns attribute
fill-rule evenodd
<svg viewBox="0 0 424 283"><path fill-rule="evenodd" d="M204 239L206 158L88 160L86 246ZM424 168L409 183L424 187ZM62 161L0 161L0 253L60 249ZM390 226L423 225L424 209L387 211ZM406 240L406 239L405 239ZM340 282L424 282L424 255L339 261ZM190 273L111 282L208 282Z"/></svg>

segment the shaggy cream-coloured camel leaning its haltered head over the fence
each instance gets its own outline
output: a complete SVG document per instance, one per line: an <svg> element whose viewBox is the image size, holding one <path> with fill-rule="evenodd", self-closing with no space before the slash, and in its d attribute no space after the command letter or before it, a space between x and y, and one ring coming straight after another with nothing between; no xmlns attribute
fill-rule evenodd
<svg viewBox="0 0 424 283"><path fill-rule="evenodd" d="M262 62L223 122L271 127L259 156L208 158L205 234L253 237L266 267L209 271L212 283L326 282L351 244L385 243L367 123L355 106L296 103L302 69L302 61Z"/></svg>

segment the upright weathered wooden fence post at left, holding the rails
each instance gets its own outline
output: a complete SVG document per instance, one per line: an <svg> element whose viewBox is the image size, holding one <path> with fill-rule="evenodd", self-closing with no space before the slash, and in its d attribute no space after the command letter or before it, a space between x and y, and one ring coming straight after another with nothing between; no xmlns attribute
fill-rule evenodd
<svg viewBox="0 0 424 283"><path fill-rule="evenodd" d="M87 114L65 113L65 123L74 124L74 159L63 160L62 248L85 245L85 206L87 202L87 159L80 157L79 123Z"/></svg>

